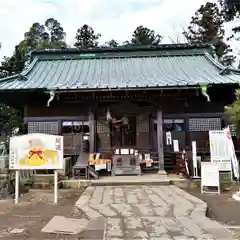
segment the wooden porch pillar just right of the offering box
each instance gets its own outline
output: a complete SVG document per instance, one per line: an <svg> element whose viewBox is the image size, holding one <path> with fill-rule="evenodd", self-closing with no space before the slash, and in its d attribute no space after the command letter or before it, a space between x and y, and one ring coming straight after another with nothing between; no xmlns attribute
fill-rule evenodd
<svg viewBox="0 0 240 240"><path fill-rule="evenodd" d="M163 152L163 120L162 111L157 111L157 147L158 147L158 161L159 174L166 174L164 170L164 152Z"/></svg>

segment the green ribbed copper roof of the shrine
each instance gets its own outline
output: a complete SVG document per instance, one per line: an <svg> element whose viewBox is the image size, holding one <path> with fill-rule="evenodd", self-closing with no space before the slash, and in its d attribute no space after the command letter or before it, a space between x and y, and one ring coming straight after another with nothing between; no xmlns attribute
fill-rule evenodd
<svg viewBox="0 0 240 240"><path fill-rule="evenodd" d="M239 83L204 46L40 51L20 75L1 79L0 90L134 89Z"/></svg>

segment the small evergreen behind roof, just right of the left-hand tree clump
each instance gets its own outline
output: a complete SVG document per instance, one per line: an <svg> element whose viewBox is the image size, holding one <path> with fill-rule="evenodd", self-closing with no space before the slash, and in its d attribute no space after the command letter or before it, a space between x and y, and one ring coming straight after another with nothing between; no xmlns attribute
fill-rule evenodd
<svg viewBox="0 0 240 240"><path fill-rule="evenodd" d="M74 46L76 48L94 48L98 46L98 40L101 34L96 34L92 27L84 24L77 30L76 42Z"/></svg>

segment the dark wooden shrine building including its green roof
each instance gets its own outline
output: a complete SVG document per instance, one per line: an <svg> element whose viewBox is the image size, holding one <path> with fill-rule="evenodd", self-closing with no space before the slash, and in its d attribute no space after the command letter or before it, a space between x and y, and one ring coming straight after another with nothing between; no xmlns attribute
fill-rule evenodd
<svg viewBox="0 0 240 240"><path fill-rule="evenodd" d="M224 126L239 81L209 45L42 50L1 79L0 98L23 110L26 132L63 135L65 155L78 154L84 133L91 153L137 149L170 171L166 133L180 150L196 141L209 152L208 131Z"/></svg>

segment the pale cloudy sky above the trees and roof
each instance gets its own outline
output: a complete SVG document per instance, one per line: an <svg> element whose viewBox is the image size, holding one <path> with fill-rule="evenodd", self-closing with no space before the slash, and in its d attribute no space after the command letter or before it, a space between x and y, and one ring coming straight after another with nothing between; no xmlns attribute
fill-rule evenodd
<svg viewBox="0 0 240 240"><path fill-rule="evenodd" d="M76 30L83 24L91 25L102 34L101 43L110 39L123 42L130 39L138 25L154 29L164 36L163 43L179 37L182 27L206 0L0 0L0 42L4 55L11 55L14 46L23 39L33 22L47 18L59 20L67 32L67 43L72 45ZM229 25L229 24L228 24ZM229 26L227 29L230 29ZM234 44L233 44L234 45ZM237 44L238 45L238 44ZM234 45L234 51L238 47ZM236 48L236 49L235 49Z"/></svg>

